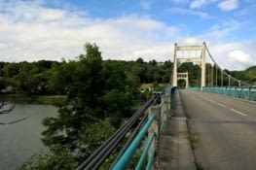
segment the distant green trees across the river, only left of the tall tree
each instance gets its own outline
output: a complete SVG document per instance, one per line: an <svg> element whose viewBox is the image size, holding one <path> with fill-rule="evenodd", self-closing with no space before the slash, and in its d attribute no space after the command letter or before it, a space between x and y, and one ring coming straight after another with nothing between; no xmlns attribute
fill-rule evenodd
<svg viewBox="0 0 256 170"><path fill-rule="evenodd" d="M50 94L48 81L51 78L51 70L56 67L56 61L41 60L28 63L2 63L1 76L2 88L12 86L12 91L21 94Z"/></svg>

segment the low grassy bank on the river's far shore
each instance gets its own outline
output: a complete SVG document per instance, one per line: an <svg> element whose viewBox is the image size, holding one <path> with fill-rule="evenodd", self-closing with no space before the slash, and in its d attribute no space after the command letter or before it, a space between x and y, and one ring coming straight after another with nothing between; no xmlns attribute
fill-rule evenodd
<svg viewBox="0 0 256 170"><path fill-rule="evenodd" d="M7 101L27 104L60 104L66 99L65 95L21 95L21 94L7 94Z"/></svg>

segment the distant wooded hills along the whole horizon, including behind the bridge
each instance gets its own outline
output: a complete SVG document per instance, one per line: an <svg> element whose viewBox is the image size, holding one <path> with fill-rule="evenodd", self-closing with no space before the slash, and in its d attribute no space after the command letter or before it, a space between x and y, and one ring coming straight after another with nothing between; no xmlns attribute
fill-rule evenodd
<svg viewBox="0 0 256 170"><path fill-rule="evenodd" d="M59 70L72 65L74 67L78 61L62 60L40 60L35 62L0 62L0 92L18 93L26 95L41 94L65 94L65 85L57 85L56 74ZM157 62L155 59L146 62L142 58L135 61L103 60L104 65L119 65L133 84L167 84L170 81L173 63L168 61ZM206 67L209 64L206 64ZM209 66L210 67L210 66ZM193 63L184 63L178 68L179 72L189 72L189 82L191 86L201 85L201 68ZM238 80L255 85L256 66L252 66L244 71L225 70ZM68 71L67 71L68 72ZM72 73L70 74L72 77ZM210 74L210 73L206 73ZM218 82L221 82L221 73L218 73ZM208 77L210 75L206 75ZM215 78L213 79L215 81ZM207 82L207 80L206 80ZM215 85L215 83L213 83ZM210 85L210 84L208 84ZM228 79L224 78L224 85L228 85ZM179 86L185 86L185 82L180 81Z"/></svg>

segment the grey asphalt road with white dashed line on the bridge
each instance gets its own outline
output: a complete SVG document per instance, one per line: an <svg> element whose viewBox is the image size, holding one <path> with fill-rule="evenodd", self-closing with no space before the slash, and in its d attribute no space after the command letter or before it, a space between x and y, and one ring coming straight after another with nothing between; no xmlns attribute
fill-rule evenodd
<svg viewBox="0 0 256 170"><path fill-rule="evenodd" d="M256 103L189 90L180 95L204 169L256 169Z"/></svg>

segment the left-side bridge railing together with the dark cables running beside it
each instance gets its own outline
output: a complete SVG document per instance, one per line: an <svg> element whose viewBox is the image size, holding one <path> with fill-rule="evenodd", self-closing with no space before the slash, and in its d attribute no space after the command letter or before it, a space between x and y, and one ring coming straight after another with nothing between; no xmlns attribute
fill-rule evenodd
<svg viewBox="0 0 256 170"><path fill-rule="evenodd" d="M133 129L132 134L129 135L127 143L112 163L110 169L125 169L132 155L138 149L142 149L142 153L137 160L136 166L132 167L132 169L157 168L159 166L158 146L160 143L160 134L165 127L167 116L174 106L172 103L174 102L175 89L175 87L168 86L164 92L157 92L101 147L92 153L87 160L82 162L77 169L98 169L131 129ZM132 126L135 123L137 125L134 128ZM143 167L145 163L147 165Z"/></svg>

